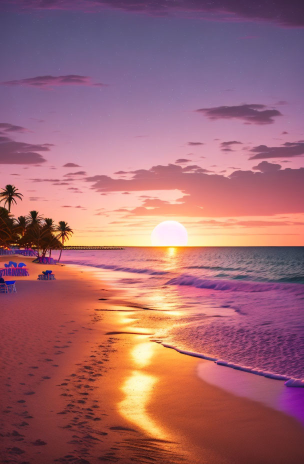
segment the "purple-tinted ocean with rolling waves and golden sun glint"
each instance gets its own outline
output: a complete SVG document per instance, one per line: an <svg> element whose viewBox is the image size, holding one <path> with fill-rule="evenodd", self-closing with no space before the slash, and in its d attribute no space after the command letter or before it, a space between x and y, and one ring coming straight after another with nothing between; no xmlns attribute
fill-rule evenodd
<svg viewBox="0 0 304 464"><path fill-rule="evenodd" d="M155 341L304 378L304 247L64 250L61 261L103 269L145 310L133 324L152 327Z"/></svg>

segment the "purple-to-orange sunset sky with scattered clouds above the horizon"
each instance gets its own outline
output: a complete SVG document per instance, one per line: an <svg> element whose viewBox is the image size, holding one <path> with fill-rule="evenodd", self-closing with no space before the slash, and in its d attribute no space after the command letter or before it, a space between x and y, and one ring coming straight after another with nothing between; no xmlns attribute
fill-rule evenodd
<svg viewBox="0 0 304 464"><path fill-rule="evenodd" d="M2 0L12 212L69 244L150 245L166 219L189 245L304 244L303 8L247 3Z"/></svg>

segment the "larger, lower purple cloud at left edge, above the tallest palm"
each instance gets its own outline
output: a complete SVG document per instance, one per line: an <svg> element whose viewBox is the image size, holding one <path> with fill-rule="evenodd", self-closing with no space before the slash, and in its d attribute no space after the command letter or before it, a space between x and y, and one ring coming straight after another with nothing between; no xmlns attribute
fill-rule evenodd
<svg viewBox="0 0 304 464"><path fill-rule="evenodd" d="M49 151L50 146L53 145L16 142L0 137L0 164L40 164L46 159L38 151Z"/></svg>

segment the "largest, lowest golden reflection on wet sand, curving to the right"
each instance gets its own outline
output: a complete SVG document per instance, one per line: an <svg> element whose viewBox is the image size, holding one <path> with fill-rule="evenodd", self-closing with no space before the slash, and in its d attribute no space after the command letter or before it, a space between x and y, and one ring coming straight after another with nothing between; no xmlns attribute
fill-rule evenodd
<svg viewBox="0 0 304 464"><path fill-rule="evenodd" d="M151 343L152 344L152 343ZM150 417L146 405L157 377L134 370L122 385L125 398L118 404L120 414L142 428L149 436L169 439L167 433Z"/></svg>

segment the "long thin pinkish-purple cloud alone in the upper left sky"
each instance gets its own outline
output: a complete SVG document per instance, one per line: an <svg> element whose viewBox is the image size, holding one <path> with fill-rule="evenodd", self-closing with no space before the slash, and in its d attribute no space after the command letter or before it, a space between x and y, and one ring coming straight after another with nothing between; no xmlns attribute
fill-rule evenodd
<svg viewBox="0 0 304 464"><path fill-rule="evenodd" d="M67 75L39 75L36 77L28 77L26 79L6 80L1 82L2 85L22 85L37 88L51 88L61 85L84 85L87 87L103 87L105 84L94 83L91 77L77 74Z"/></svg>

